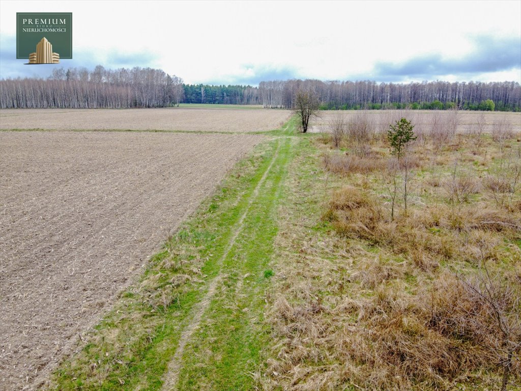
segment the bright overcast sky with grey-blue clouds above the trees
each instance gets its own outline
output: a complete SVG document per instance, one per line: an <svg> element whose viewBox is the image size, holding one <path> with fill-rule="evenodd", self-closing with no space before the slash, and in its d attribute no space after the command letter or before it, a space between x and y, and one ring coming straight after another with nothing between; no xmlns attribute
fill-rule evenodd
<svg viewBox="0 0 521 391"><path fill-rule="evenodd" d="M521 1L0 1L0 77L46 77L16 59L17 12L72 12L64 68L153 67L187 83L313 78L521 82Z"/></svg>

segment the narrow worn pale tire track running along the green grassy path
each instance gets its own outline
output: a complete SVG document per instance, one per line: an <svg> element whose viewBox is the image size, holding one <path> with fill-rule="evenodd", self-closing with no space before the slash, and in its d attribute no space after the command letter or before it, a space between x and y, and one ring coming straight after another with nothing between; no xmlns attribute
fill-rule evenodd
<svg viewBox="0 0 521 391"><path fill-rule="evenodd" d="M228 246L226 247L225 252L222 254L222 256L218 262L219 269L221 268L222 264L224 263L224 260L227 258L230 250L232 249L233 245L235 244L235 240L237 240L237 237L239 236L241 230L243 229L244 220L245 220L247 214L250 212L253 202L255 201L255 199L258 196L259 189L263 186L264 182L266 181L266 178L268 176L268 173L271 170L271 167L274 165L274 163L277 160L277 157L279 155L279 149L280 149L280 143L277 141L277 149L276 149L273 157L271 158L271 162L269 163L269 166L266 168L261 179L257 182L257 186L255 186L255 189L252 192L247 205L245 206L244 213L241 215L239 221L237 223L235 223L235 226L232 229L232 232L233 232L232 237L228 241ZM167 372L165 375L165 381L163 383L163 388L162 388L164 391L171 391L171 390L176 389L176 385L179 380L179 373L181 370L184 348L187 346L188 342L192 338L192 335L195 332L195 330L197 329L197 327L199 327L199 325L201 324L203 314L208 309L210 302L212 301L212 299L215 295L216 288L221 281L222 281L222 273L219 272L219 275L214 277L214 279L210 282L208 290L207 290L205 296L203 297L203 299L199 302L199 304L193 310L191 322L184 328L183 332L181 333L176 352L173 355L170 362L168 363L168 368L167 368Z"/></svg>

